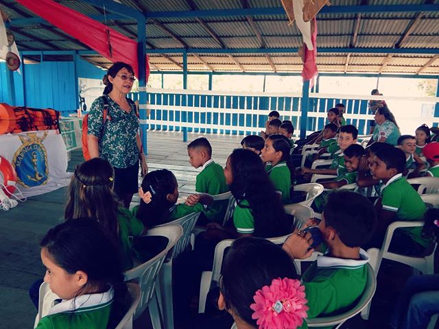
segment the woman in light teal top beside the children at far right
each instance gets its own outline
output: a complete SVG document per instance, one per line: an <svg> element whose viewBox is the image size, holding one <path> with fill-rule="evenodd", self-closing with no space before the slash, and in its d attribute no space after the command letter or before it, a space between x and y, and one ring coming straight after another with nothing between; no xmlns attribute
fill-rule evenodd
<svg viewBox="0 0 439 329"><path fill-rule="evenodd" d="M396 145L401 132L392 112L388 108L377 109L375 112L375 123L377 125L368 145L374 142Z"/></svg>

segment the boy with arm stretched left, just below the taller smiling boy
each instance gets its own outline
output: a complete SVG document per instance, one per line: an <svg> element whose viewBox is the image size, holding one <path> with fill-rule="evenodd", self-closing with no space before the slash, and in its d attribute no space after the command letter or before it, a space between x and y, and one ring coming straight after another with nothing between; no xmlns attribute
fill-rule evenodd
<svg viewBox="0 0 439 329"><path fill-rule="evenodd" d="M358 144L352 144L344 150L344 169L337 171L337 177L333 180L319 181L324 188L335 190L347 184L353 184L357 180L359 162L364 155L364 148ZM331 191L324 191L314 199L311 207L316 212L322 212L327 203Z"/></svg>

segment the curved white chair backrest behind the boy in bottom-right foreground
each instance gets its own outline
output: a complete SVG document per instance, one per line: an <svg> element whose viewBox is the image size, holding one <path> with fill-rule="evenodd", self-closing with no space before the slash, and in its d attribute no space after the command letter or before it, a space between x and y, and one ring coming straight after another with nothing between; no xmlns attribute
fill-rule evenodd
<svg viewBox="0 0 439 329"><path fill-rule="evenodd" d="M375 278L375 273L369 264L366 264L366 267L368 271L368 279L366 282L366 287L364 288L361 297L359 297L357 304L355 304L355 306L353 306L351 310L348 310L347 312L340 315L334 315L331 317L317 317L316 319L307 319L307 324L309 328L331 327L336 326L337 324L342 324L347 319L355 317L355 315L360 313L361 310L366 307L370 300L372 300L375 289L377 289L377 279Z"/></svg>

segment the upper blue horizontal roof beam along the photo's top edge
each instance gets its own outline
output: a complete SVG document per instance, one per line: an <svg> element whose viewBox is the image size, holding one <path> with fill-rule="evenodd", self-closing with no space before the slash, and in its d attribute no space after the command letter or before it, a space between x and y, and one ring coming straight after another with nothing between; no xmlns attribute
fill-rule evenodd
<svg viewBox="0 0 439 329"><path fill-rule="evenodd" d="M85 0L82 0L85 1ZM86 0L97 1L97 0ZM101 0L102 1L102 0ZM426 5L325 5L318 14L357 14L359 12L438 12L438 4ZM230 17L230 16L264 16L282 15L285 16L283 7L279 8L248 8L228 10L187 10L168 12L147 12L145 17L149 18L204 18L204 17Z"/></svg>

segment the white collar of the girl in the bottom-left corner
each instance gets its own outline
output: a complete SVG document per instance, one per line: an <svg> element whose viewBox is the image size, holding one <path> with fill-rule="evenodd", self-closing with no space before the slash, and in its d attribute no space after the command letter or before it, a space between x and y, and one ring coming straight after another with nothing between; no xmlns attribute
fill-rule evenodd
<svg viewBox="0 0 439 329"><path fill-rule="evenodd" d="M62 300L59 304L52 306L47 315L66 312L78 313L82 311L82 308L86 308L86 310L96 310L110 304L114 295L115 291L111 287L105 293L92 293L89 295L80 295L71 300Z"/></svg>

